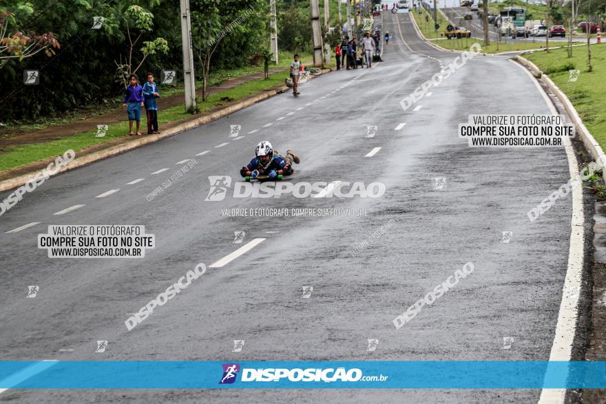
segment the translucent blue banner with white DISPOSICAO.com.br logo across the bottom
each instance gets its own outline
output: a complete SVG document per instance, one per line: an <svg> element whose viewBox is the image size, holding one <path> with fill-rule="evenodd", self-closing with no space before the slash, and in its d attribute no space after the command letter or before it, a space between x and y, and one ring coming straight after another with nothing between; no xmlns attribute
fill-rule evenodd
<svg viewBox="0 0 606 404"><path fill-rule="evenodd" d="M604 389L603 361L0 361L20 389Z"/></svg>

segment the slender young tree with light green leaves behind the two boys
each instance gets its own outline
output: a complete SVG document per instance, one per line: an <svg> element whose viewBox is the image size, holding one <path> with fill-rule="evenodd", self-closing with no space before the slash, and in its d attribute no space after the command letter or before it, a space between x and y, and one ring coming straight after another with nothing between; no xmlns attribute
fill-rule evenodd
<svg viewBox="0 0 606 404"><path fill-rule="evenodd" d="M114 63L116 63L116 66L118 67L118 76L121 81L123 81L124 87L127 87L129 76L131 74L136 74L139 67L141 67L145 59L147 59L147 56L157 54L158 52L167 54L169 47L166 39L160 37L154 39L154 41L143 41L143 47L139 50L143 57L141 57L137 67L133 68L133 52L135 51L135 46L143 34L151 32L154 29L154 14L151 14L151 12L145 10L145 8L141 6L130 6L127 8L123 20L128 39L128 56L125 57L124 63L122 61L122 55L120 55L120 63L117 61L114 61ZM133 36L136 32L131 32L131 26L139 32L134 40Z"/></svg>

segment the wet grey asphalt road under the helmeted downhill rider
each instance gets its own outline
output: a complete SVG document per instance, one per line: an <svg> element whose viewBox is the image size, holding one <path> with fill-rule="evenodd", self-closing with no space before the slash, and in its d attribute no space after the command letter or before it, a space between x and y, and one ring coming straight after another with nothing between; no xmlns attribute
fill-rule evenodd
<svg viewBox="0 0 606 404"><path fill-rule="evenodd" d="M469 114L523 114L529 107L534 114L549 114L550 109L519 66L479 56L403 111L399 101L456 54L422 43L408 14L385 17L384 30L395 39L386 46L384 62L370 70L325 74L302 85L298 98L281 94L56 176L25 195L0 218L1 359L547 360L567 268L572 201L561 200L532 224L526 212L567 182L565 151L471 149L457 138L457 125ZM242 125L242 137L230 138L229 125ZM367 137L367 127L375 125L375 136ZM293 182L383 182L386 192L366 199L205 202L207 177L240 181L239 169L260 140L299 153ZM193 158L197 164L180 181L148 202L146 195ZM437 177L446 178L444 189L434 189ZM119 191L96 198L112 189ZM54 215L75 205L84 206ZM223 217L221 211L255 207L353 208L368 215ZM5 233L31 222L39 224ZM384 235L353 255L357 244L388 223ZM50 259L36 241L49 224L141 224L157 246L142 259ZM246 232L244 244L265 240L229 264L209 268L127 331L129 313L174 279L242 246L233 244L236 231ZM503 231L512 232L510 243L501 243ZM395 316L466 262L474 263L470 277L395 329ZM25 297L30 285L40 288L35 298ZM303 286L313 286L308 299L301 297ZM501 349L503 337L514 338L510 349ZM379 340L374 352L366 350L367 339ZM105 352L94 352L97 340L109 341ZM233 340L245 341L241 352L232 352ZM8 390L0 400L532 403L539 394Z"/></svg>

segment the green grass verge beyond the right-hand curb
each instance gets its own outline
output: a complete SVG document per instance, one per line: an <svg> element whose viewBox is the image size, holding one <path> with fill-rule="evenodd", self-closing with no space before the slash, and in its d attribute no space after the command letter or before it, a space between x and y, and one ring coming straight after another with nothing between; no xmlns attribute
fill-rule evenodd
<svg viewBox="0 0 606 404"><path fill-rule="evenodd" d="M589 132L602 149L606 149L606 45L592 45L593 71L587 71L587 47L572 48L573 57L568 58L565 49L536 52L524 57L548 74L572 101ZM568 81L568 70L578 69L577 81Z"/></svg>

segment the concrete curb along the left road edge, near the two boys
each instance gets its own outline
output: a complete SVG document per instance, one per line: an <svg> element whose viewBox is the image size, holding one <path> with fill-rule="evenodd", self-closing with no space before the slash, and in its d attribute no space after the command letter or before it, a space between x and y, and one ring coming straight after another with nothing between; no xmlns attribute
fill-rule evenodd
<svg viewBox="0 0 606 404"><path fill-rule="evenodd" d="M331 72L331 69L322 70L322 72L323 73ZM308 80L311 80L315 77L317 77L317 76L310 75ZM217 119L227 116L229 114L233 114L236 111L240 111L240 109L250 107L251 105L256 104L256 103L260 103L263 100L267 100L267 98L271 98L273 96L277 96L278 94L282 94L282 92L284 92L288 89L289 89L289 87L286 87L286 85L281 85L280 87L277 87L274 89L262 90L261 94L256 94L245 100L241 100L238 103L235 103L233 105L229 105L228 107L220 109L219 111L215 111L211 114L201 116L200 118L190 120L189 122L183 123L182 125L178 125L176 127L171 127L170 129L163 130L161 134L147 135L145 137L138 138L136 140L132 140L130 142L123 143L121 145L109 147L105 150L95 151L95 152L90 153L81 158L76 158L69 164L61 166L61 169L59 169L59 171L54 173L51 177L57 176L65 171L77 169L77 168L83 167L87 164L91 164L91 163L99 161L99 160L104 160L105 158L116 156L118 154L125 153L127 151L131 151L133 149L137 149L138 147L143 147L145 145L149 145L150 143L158 142L165 138L170 138L172 136L176 136L184 131L194 129L200 125L204 125L205 123L209 123L213 120L217 120ZM76 154L77 154L77 152L76 152ZM53 156L52 158L48 158L45 160L38 160L36 162L32 162L32 163L26 165L25 167L39 166L40 162L50 163L50 162L54 161L55 158L56 158L56 156ZM17 168L23 169L23 167L17 167ZM10 189L14 189L17 187L21 187L21 185L25 184L26 182L33 180L34 177L36 176L36 173L38 173L38 172L39 172L39 170L36 170L36 171L32 171L31 173L23 174L22 176L18 176L15 178L10 178L8 180L1 181L0 182L0 192L8 191Z"/></svg>

